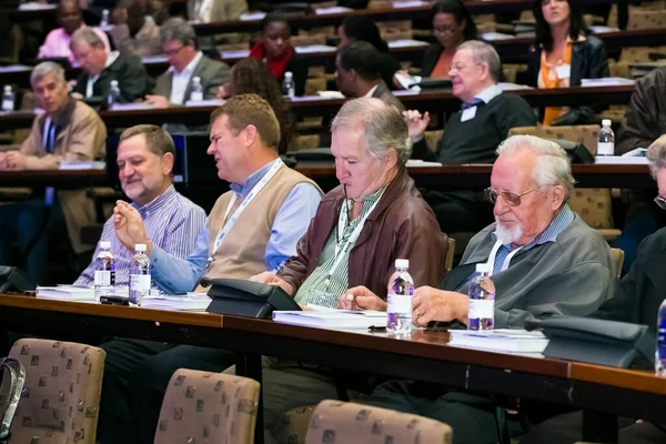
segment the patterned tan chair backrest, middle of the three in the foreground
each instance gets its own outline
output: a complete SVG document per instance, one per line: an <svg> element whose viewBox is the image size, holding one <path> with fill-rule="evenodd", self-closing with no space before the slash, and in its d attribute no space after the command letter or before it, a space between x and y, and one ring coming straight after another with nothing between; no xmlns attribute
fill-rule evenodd
<svg viewBox="0 0 666 444"><path fill-rule="evenodd" d="M258 403L254 380L179 369L164 394L154 444L252 444Z"/></svg>

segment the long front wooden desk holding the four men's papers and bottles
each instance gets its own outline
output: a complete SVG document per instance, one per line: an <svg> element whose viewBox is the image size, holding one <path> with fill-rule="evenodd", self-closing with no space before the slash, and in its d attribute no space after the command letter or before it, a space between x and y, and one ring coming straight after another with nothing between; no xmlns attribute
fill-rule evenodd
<svg viewBox="0 0 666 444"><path fill-rule="evenodd" d="M447 345L447 333L432 330L416 330L411 340L397 340L385 333L17 295L0 295L0 325L63 340L94 331L280 356L652 421L663 421L666 411L666 384L650 372L454 347Z"/></svg>

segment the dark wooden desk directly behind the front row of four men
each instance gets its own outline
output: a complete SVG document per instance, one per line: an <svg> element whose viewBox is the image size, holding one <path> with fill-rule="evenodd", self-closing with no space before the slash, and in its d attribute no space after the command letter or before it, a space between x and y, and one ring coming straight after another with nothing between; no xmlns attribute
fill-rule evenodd
<svg viewBox="0 0 666 444"><path fill-rule="evenodd" d="M212 160L211 160L212 161ZM484 189L490 186L492 165L445 165L411 168L410 175L417 186L436 190ZM296 171L311 178L324 190L339 184L335 168L329 162L302 162ZM581 165L572 167L577 188L635 188L654 189L655 181L647 165ZM107 172L87 171L2 171L0 186L50 186L79 189L105 186Z"/></svg>

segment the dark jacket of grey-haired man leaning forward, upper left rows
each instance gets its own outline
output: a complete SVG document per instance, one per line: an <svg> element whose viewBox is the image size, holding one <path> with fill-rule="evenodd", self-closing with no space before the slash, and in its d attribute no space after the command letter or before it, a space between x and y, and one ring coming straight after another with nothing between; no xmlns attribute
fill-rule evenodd
<svg viewBox="0 0 666 444"><path fill-rule="evenodd" d="M77 79L77 85L72 90L85 97L85 85L88 84L88 73L82 72ZM150 93L148 73L145 67L138 57L119 56L113 63L105 68L100 78L92 87L92 98L85 99L85 102L94 105L101 104L109 95L111 80L118 80L120 88L120 102L133 102L135 99L142 99Z"/></svg>

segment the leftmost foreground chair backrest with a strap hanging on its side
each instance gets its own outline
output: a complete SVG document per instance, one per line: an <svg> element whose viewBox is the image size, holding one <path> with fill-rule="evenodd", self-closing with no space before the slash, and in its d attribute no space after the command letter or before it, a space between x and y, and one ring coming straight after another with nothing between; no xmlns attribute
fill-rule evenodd
<svg viewBox="0 0 666 444"><path fill-rule="evenodd" d="M47 436L58 434L63 443L94 444L107 353L73 342L24 339L9 355L26 367L11 441L54 442Z"/></svg>

